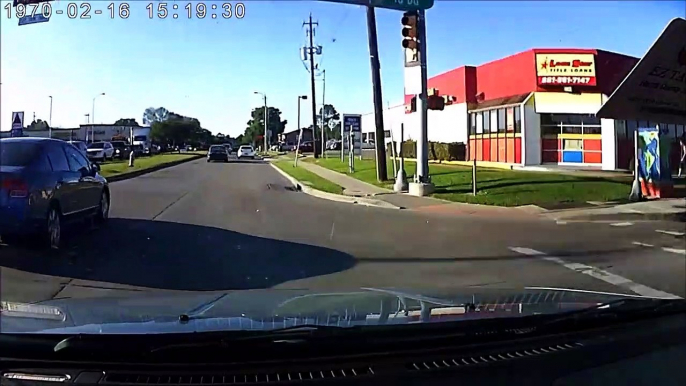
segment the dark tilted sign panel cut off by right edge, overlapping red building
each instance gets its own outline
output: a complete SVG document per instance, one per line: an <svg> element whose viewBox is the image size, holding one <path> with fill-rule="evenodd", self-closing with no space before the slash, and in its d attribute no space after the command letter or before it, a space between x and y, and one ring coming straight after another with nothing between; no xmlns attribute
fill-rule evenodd
<svg viewBox="0 0 686 386"><path fill-rule="evenodd" d="M600 118L686 123L686 19L667 24L598 110Z"/></svg>

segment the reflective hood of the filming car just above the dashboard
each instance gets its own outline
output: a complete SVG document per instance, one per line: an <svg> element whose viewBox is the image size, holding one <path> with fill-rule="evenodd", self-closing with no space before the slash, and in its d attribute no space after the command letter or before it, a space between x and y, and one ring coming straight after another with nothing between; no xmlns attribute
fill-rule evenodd
<svg viewBox="0 0 686 386"><path fill-rule="evenodd" d="M380 315L388 315L388 320L382 318L384 323L429 323L558 313L622 297L632 296L554 288L428 292L359 288L341 292L245 290L67 298L32 304L2 302L0 331L135 334L269 330L298 324L369 325L378 323Z"/></svg>

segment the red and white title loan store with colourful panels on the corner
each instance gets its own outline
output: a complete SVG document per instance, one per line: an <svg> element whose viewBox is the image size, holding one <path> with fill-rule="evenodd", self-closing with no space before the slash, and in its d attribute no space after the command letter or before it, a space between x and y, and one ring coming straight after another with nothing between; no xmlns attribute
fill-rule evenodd
<svg viewBox="0 0 686 386"><path fill-rule="evenodd" d="M659 122L595 113L637 62L595 49L531 49L434 76L429 94L443 96L446 107L429 112L429 140L468 143L469 159L477 161L627 168L632 131ZM419 128L412 97L405 96L402 118L410 138ZM684 131L683 125L665 126L675 138Z"/></svg>

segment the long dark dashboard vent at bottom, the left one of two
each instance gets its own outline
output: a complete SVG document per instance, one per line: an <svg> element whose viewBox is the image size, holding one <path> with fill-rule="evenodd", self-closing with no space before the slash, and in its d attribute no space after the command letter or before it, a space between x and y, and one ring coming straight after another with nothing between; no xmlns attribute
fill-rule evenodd
<svg viewBox="0 0 686 386"><path fill-rule="evenodd" d="M251 385L285 382L317 381L335 378L372 376L370 367L299 370L282 372L254 372L230 374L201 373L108 373L101 385Z"/></svg>

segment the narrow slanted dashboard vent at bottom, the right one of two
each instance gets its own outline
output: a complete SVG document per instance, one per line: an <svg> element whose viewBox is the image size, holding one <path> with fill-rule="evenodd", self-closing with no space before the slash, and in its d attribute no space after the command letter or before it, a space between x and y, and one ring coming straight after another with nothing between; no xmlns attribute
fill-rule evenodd
<svg viewBox="0 0 686 386"><path fill-rule="evenodd" d="M560 351L572 350L582 347L581 343L563 343L554 346L536 347L513 351L494 352L484 355L474 355L456 358L439 358L429 361L410 362L405 365L409 371L429 371L446 368L474 366L485 363L511 361L515 359L533 357L538 355L552 354Z"/></svg>

